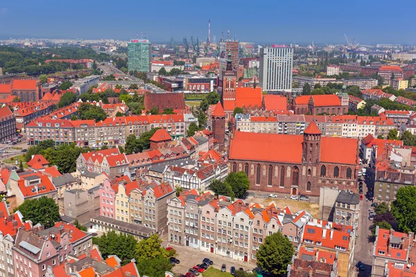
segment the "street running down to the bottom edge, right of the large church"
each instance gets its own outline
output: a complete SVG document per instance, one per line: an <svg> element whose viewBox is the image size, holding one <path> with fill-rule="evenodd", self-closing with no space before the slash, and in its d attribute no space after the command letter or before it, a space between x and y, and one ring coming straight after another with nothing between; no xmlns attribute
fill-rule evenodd
<svg viewBox="0 0 416 277"><path fill-rule="evenodd" d="M364 195L367 195L368 186L365 182L363 183ZM357 276L371 275L373 243L369 240L369 236L371 235L369 228L372 225L372 221L368 219L368 210L372 208L371 203L371 201L365 201L365 199L360 202L360 222L358 224L358 239L356 240L354 264L358 261L363 262L365 264L365 271L359 271Z"/></svg>

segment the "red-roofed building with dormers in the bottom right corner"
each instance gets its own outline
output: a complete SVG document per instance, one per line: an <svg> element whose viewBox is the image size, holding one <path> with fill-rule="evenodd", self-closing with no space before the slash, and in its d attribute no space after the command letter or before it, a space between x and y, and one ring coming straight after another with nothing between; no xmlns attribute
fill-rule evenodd
<svg viewBox="0 0 416 277"><path fill-rule="evenodd" d="M414 247L415 234L413 232L400 233L394 230L385 230L376 226L376 240L372 247L371 276L395 276L394 268L404 269L413 267L416 262ZM390 266L390 275L385 275L385 269ZM393 270L392 270L393 269ZM399 275L402 276L399 271ZM404 275L406 276L406 275ZM410 276L410 275L408 275Z"/></svg>

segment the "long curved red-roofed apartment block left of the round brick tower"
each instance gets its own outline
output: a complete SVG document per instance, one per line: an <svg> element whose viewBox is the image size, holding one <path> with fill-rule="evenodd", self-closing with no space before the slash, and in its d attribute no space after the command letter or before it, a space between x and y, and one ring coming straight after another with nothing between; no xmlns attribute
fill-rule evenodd
<svg viewBox="0 0 416 277"><path fill-rule="evenodd" d="M118 116L94 120L67 120L62 118L37 118L26 125L28 144L53 139L58 143L76 142L78 146L117 145L125 143L130 134L140 136L153 128L166 129L173 138L186 136L191 123L198 120L191 114L160 114L150 116ZM69 116L71 118L71 116Z"/></svg>

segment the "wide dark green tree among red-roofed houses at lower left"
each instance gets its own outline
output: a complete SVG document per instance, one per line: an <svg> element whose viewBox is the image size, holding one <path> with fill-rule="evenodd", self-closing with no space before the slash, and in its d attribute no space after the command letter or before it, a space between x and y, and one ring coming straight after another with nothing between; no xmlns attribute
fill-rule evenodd
<svg viewBox="0 0 416 277"><path fill-rule="evenodd" d="M51 228L60 218L59 207L55 204L55 200L45 196L26 200L15 208L16 211L20 211L24 220L31 220L33 225L40 223L45 229Z"/></svg>

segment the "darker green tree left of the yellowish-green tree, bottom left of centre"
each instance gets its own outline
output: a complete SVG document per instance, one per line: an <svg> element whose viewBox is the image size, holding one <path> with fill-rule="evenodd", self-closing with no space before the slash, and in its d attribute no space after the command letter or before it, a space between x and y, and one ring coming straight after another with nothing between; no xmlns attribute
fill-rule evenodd
<svg viewBox="0 0 416 277"><path fill-rule="evenodd" d="M128 264L136 257L137 240L132 235L118 235L115 231L110 231L99 238L94 238L93 243L98 245L103 258L116 255L121 259L121 265Z"/></svg>

